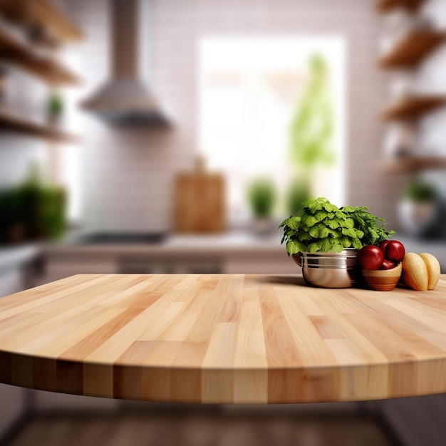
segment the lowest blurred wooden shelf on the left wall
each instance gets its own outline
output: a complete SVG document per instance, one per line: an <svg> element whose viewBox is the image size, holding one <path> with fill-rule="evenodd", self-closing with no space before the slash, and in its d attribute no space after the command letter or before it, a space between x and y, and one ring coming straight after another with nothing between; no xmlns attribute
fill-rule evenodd
<svg viewBox="0 0 446 446"><path fill-rule="evenodd" d="M21 133L56 142L78 142L75 135L53 128L51 125L35 123L4 108L0 108L0 132L2 131Z"/></svg>

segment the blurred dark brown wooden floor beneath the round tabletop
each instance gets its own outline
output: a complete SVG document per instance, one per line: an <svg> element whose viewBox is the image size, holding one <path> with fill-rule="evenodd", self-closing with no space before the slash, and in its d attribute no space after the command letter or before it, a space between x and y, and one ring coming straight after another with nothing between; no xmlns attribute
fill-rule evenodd
<svg viewBox="0 0 446 446"><path fill-rule="evenodd" d="M7 446L395 446L374 420L205 413L39 415Z"/></svg>

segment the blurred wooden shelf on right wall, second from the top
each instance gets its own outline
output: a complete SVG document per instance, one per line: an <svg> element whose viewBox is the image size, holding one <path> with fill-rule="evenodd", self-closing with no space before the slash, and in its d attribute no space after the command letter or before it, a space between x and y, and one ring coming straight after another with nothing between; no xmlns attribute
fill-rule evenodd
<svg viewBox="0 0 446 446"><path fill-rule="evenodd" d="M413 68L446 41L446 31L415 30L379 60L380 68Z"/></svg>

